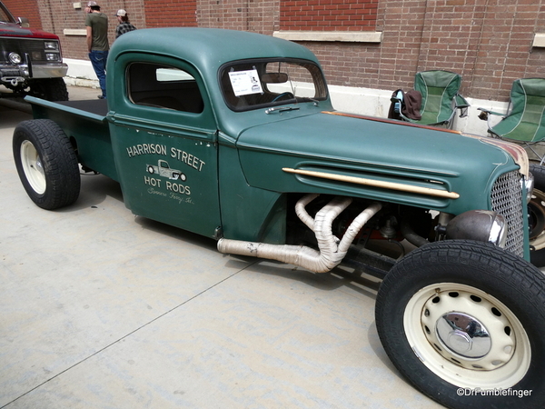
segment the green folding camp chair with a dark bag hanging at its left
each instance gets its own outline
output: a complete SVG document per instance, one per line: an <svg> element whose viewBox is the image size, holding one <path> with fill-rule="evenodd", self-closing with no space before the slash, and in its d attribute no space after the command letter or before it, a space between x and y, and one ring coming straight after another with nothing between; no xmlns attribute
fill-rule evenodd
<svg viewBox="0 0 545 409"><path fill-rule="evenodd" d="M461 75L451 71L421 71L414 77L414 89L421 93L421 119L414 120L400 113L401 119L421 125L443 125L452 127L456 110L460 117L467 115L470 106L463 96L458 94ZM392 97L392 102L395 98Z"/></svg>

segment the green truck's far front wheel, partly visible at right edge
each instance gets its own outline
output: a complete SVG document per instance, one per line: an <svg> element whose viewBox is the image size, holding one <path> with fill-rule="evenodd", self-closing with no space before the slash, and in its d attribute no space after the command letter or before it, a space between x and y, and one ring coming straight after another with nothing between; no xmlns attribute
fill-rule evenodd
<svg viewBox="0 0 545 409"><path fill-rule="evenodd" d="M545 166L530 164L534 177L534 195L528 205L530 217L530 260L538 267L545 266Z"/></svg>

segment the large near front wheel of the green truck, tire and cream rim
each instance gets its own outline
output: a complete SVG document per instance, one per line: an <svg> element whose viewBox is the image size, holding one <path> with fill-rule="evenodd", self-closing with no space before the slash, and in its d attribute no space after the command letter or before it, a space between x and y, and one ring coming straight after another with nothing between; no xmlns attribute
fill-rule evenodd
<svg viewBox="0 0 545 409"><path fill-rule="evenodd" d="M392 363L431 399L545 407L545 276L520 257L479 242L426 244L386 275L375 314ZM463 320L465 331L454 325Z"/></svg>

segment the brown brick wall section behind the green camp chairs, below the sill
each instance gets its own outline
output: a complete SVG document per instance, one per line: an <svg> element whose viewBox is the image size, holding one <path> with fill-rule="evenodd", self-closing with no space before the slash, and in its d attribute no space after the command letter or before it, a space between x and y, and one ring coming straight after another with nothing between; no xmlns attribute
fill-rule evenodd
<svg viewBox="0 0 545 409"><path fill-rule="evenodd" d="M463 95L507 101L515 79L545 76L545 48L531 46L543 0L381 0L377 30L380 45L304 45L331 85L411 89L418 71L444 69L463 76Z"/></svg>

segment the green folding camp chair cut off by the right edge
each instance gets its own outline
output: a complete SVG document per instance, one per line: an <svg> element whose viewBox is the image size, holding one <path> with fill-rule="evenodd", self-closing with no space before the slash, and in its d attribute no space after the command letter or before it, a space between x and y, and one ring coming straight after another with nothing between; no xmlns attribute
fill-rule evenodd
<svg viewBox="0 0 545 409"><path fill-rule="evenodd" d="M516 142L528 148L540 160L545 155L539 153L536 144L545 139L545 78L520 78L513 82L510 103L506 114L482 111L481 119L486 119L492 136ZM501 115L500 122L492 125L491 115Z"/></svg>

